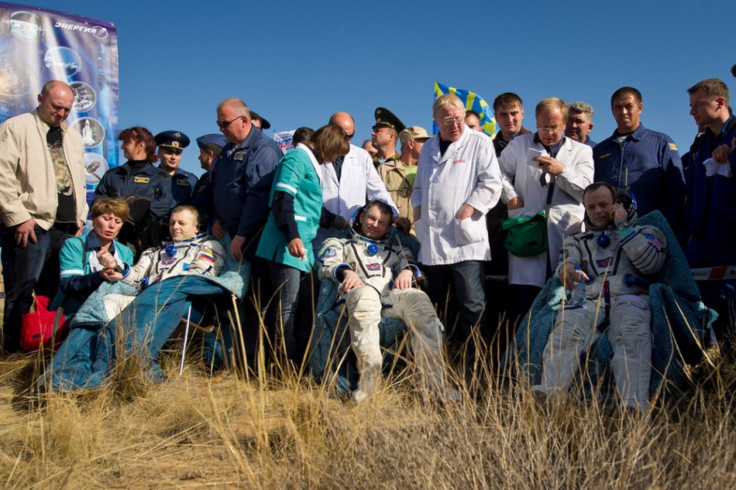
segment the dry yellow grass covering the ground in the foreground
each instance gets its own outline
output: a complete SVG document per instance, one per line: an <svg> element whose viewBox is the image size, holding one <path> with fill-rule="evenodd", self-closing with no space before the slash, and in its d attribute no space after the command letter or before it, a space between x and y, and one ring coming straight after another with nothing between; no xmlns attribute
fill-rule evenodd
<svg viewBox="0 0 736 490"><path fill-rule="evenodd" d="M415 390L411 367L356 406L293 373L190 364L178 376L174 358L162 384L133 366L98 392L34 399L39 364L0 361L3 488L736 488L726 363L696 371L687 400L651 423L539 406L482 360L444 406Z"/></svg>

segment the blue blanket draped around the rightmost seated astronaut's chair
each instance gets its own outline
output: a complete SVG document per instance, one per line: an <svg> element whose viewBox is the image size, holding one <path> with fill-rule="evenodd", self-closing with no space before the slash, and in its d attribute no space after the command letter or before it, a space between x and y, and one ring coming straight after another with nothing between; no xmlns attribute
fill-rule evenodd
<svg viewBox="0 0 736 490"><path fill-rule="evenodd" d="M656 226L667 239L667 261L649 289L652 311L652 376L651 396L661 391L664 398L678 397L684 382L683 367L700 360L707 344L711 310L700 300L698 287L690 275L685 255L677 244L667 220L658 211L641 217L637 224ZM539 384L542 377L542 354L560 308L564 289L553 277L545 284L531 309L522 319L514 341L509 346L504 363L518 366L519 377L530 385ZM603 397L613 393L613 378L609 361L613 355L607 333L604 333L587 353L586 381L581 396L596 392L601 385ZM583 376L583 374L585 374Z"/></svg>

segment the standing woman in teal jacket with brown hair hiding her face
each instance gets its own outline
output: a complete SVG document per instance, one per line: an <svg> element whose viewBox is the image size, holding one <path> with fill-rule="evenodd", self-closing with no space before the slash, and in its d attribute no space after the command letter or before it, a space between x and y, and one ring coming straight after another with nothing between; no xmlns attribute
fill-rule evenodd
<svg viewBox="0 0 736 490"><path fill-rule="evenodd" d="M287 357L296 362L309 338L309 332L294 331L294 317L299 286L315 263L311 243L322 213L321 165L350 150L345 132L337 126L323 126L311 137L310 132L309 128L299 128L294 133L294 150L279 161L271 188L271 212L256 251L269 261L276 289L268 317L270 337L274 341L273 333L283 332L278 345L283 345Z"/></svg>

